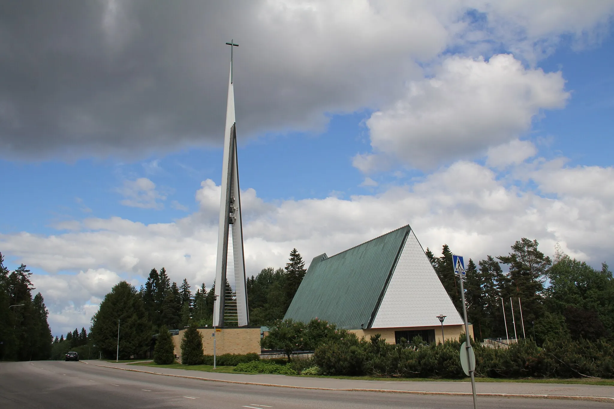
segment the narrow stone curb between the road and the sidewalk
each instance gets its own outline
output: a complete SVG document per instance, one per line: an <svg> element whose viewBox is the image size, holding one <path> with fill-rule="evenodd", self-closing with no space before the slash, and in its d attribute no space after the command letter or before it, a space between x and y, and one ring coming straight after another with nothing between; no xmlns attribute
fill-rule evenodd
<svg viewBox="0 0 614 409"><path fill-rule="evenodd" d="M160 373L141 369L130 369L113 367L110 365L96 365L97 367L127 370L130 372L150 373L152 375L163 375L165 377L196 379L210 382L236 383L243 385L256 386L274 386L277 388L293 388L293 389L316 389L318 391L346 391L346 392L381 392L381 393L397 393L397 394L413 394L413 395L440 395L440 396L472 396L471 392L436 392L436 391L400 391L397 389L368 389L368 388L317 388L316 386L297 386L297 385L282 385L274 383L259 383L259 382L244 382L244 381L229 381L214 378L190 377L188 375L174 375L172 373ZM614 397L607 396L576 396L576 395L536 395L536 394L496 394L496 393L478 393L482 397L519 397L529 399L562 399L562 400L585 400L592 402L610 402L614 403Z"/></svg>

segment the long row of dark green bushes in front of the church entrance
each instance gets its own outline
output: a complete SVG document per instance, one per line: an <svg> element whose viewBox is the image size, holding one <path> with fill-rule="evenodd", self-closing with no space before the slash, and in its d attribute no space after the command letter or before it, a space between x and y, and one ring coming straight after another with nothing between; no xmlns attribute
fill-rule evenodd
<svg viewBox="0 0 614 409"><path fill-rule="evenodd" d="M321 345L314 363L323 375L387 375L420 378L463 378L461 340L427 345L421 338L411 343L388 344L379 335L370 340L349 334ZM614 377L614 349L605 342L548 340L542 348L520 340L509 348L475 345L476 375L492 378Z"/></svg>

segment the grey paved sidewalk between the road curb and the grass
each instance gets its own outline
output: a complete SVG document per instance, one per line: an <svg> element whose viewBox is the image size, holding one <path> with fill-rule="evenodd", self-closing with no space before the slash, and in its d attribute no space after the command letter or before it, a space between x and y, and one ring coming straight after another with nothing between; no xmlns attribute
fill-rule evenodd
<svg viewBox="0 0 614 409"><path fill-rule="evenodd" d="M288 377L264 373L244 375L242 373L215 373L198 370L168 369L127 365L115 362L90 361L101 367L110 367L132 372L155 373L158 375L198 378L206 381L221 381L239 384L278 386L283 388L324 389L336 391L373 391L413 394L471 395L470 382L446 381L367 381L336 378ZM479 396L532 397L544 399L595 400L614 403L614 388L602 385L556 384L556 383L512 383L477 382Z"/></svg>

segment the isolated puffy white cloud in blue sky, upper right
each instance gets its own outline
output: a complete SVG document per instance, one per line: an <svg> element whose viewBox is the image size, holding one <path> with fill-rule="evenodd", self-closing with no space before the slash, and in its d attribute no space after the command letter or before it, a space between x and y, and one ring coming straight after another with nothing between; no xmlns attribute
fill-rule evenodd
<svg viewBox="0 0 614 409"><path fill-rule="evenodd" d="M375 156L433 169L516 139L543 109L569 97L561 72L526 69L511 55L447 58L432 78L411 82L406 95L367 121ZM363 172L386 162L359 156Z"/></svg>

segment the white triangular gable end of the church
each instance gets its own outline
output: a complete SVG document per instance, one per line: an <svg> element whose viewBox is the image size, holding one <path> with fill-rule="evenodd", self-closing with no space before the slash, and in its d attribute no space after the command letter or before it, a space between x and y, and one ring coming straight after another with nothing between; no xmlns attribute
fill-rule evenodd
<svg viewBox="0 0 614 409"><path fill-rule="evenodd" d="M371 327L439 326L440 314L446 315L444 325L463 324L429 258L410 231Z"/></svg>

